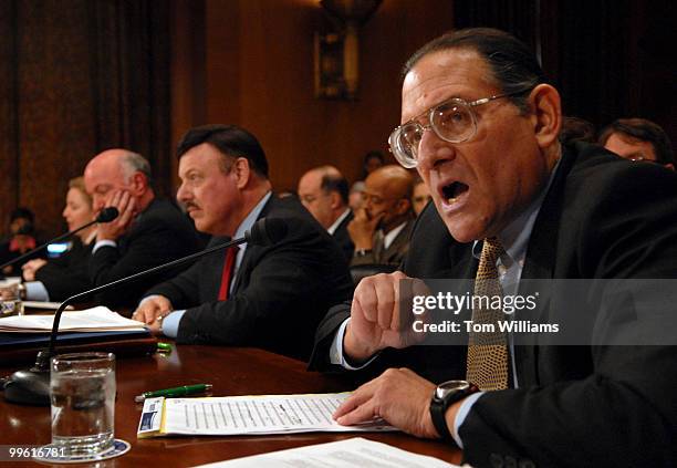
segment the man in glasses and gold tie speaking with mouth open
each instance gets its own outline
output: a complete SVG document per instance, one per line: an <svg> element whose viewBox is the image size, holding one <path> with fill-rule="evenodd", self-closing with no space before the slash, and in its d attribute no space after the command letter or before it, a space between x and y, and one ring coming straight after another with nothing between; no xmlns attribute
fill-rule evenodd
<svg viewBox="0 0 677 468"><path fill-rule="evenodd" d="M469 346L413 346L421 336L400 280L475 278L476 288L522 293L528 279L674 279L677 177L600 147L562 146L558 91L524 44L496 30L457 31L415 53L402 122L393 152L417 167L436 210L420 216L404 273L363 280L352 305L332 309L319 327L312 367L390 367L337 420L381 416L444 437L476 467L675 466L670 291L640 298L652 308L639 316L639 302L602 291L583 311L556 290L525 314L580 319L586 345L515 333L482 344L470 333ZM472 323L479 318L473 310ZM451 378L477 382L441 383Z"/></svg>

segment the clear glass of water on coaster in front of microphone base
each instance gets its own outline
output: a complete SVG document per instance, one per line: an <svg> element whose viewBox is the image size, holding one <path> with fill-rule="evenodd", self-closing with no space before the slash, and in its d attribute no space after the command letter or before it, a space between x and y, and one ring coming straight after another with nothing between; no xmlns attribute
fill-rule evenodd
<svg viewBox="0 0 677 468"><path fill-rule="evenodd" d="M52 446L65 457L113 448L115 355L61 354L52 358Z"/></svg>

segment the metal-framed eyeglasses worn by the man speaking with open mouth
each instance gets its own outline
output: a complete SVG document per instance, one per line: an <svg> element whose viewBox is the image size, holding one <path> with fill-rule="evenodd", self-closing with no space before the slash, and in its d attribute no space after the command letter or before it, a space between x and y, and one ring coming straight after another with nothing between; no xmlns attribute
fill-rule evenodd
<svg viewBox="0 0 677 468"><path fill-rule="evenodd" d="M427 129L433 129L435 135L445 142L467 142L477 133L477 115L472 107L487 104L500 97L515 96L529 91L531 91L531 89L517 91L514 93L498 94L472 102L467 102L459 97L451 97L444 101L430 107L416 118L395 128L388 137L390 152L395 155L399 164L407 169L416 167L418 164L418 145ZM421 117L427 117L428 125L423 125L418 122Z"/></svg>

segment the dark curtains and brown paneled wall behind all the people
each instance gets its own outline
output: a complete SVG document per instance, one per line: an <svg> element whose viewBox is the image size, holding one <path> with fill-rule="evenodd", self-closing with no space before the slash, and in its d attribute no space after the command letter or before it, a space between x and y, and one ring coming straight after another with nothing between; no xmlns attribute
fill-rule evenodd
<svg viewBox="0 0 677 468"><path fill-rule="evenodd" d="M252 131L277 189L326 163L355 179L399 122L403 62L452 28L514 33L567 115L597 128L642 116L675 145L675 12L667 0L384 0L360 31L358 100L342 102L313 97L313 32L331 29L317 1L2 0L0 232L18 205L61 231L69 178L110 147L144 154L173 194L173 148L205 123Z"/></svg>

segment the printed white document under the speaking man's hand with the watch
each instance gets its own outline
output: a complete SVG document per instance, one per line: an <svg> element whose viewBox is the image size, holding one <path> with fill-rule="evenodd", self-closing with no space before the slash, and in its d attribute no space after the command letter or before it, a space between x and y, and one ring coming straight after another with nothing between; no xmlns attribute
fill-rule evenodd
<svg viewBox="0 0 677 468"><path fill-rule="evenodd" d="M149 398L137 436L263 435L310 431L397 430L383 420L342 426L332 418L350 393L209 398Z"/></svg>

